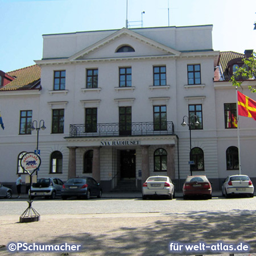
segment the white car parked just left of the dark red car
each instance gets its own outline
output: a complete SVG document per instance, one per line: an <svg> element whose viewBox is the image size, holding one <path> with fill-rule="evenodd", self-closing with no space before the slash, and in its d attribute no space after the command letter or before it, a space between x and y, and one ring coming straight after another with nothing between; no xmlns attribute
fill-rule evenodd
<svg viewBox="0 0 256 256"><path fill-rule="evenodd" d="M151 176L142 185L142 199L152 196L168 196L173 199L174 184L168 176Z"/></svg>

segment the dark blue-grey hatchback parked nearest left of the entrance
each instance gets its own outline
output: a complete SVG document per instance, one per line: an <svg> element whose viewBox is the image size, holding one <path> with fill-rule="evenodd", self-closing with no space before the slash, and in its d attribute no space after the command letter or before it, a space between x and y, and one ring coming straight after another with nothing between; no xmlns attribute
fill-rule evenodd
<svg viewBox="0 0 256 256"><path fill-rule="evenodd" d="M64 200L73 196L78 198L85 197L85 199L90 199L91 196L100 198L101 195L101 185L92 177L74 177L68 179L61 189L61 197Z"/></svg>

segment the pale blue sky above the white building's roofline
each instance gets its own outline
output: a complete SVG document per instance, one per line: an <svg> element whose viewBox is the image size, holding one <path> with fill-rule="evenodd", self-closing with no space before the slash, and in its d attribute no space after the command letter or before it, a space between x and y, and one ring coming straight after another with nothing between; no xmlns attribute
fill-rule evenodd
<svg viewBox="0 0 256 256"><path fill-rule="evenodd" d="M126 0L0 0L0 6L4 72L42 59L43 34L118 29L126 20ZM143 27L213 24L214 50L256 51L256 0L128 0L127 10L139 27L134 21L143 11Z"/></svg>

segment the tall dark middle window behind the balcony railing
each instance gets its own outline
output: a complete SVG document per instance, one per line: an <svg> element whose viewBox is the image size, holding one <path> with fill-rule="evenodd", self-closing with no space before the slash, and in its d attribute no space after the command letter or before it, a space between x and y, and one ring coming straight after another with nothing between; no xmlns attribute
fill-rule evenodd
<svg viewBox="0 0 256 256"><path fill-rule="evenodd" d="M131 135L131 107L119 107L119 135Z"/></svg>

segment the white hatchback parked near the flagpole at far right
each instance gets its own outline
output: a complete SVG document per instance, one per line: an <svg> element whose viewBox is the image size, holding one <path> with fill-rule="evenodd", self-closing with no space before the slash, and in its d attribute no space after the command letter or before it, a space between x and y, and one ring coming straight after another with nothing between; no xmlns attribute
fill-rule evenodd
<svg viewBox="0 0 256 256"><path fill-rule="evenodd" d="M226 177L222 185L222 195L229 197L230 195L249 195L254 196L254 187L249 176L247 175L230 175Z"/></svg>

